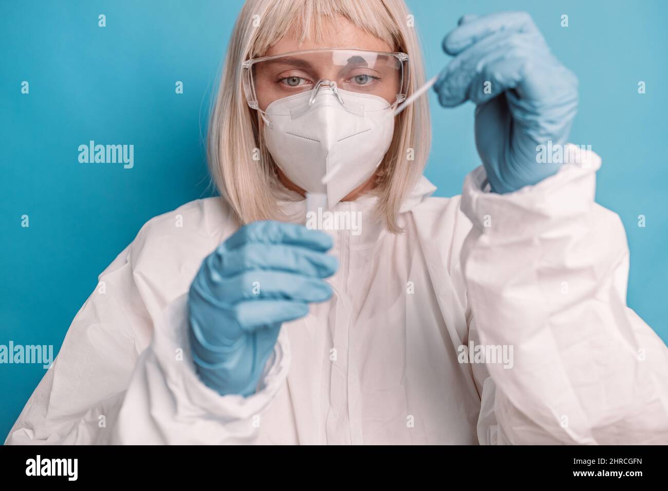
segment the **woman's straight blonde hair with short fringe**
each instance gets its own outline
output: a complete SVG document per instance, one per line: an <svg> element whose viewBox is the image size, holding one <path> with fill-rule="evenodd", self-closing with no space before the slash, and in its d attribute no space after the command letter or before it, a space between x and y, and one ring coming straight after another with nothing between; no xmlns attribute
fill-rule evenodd
<svg viewBox="0 0 668 491"><path fill-rule="evenodd" d="M287 220L274 192L276 164L263 144L257 111L246 104L242 63L259 57L285 33L322 42L323 19L343 16L409 56L408 94L424 84L422 52L403 0L247 0L230 37L207 137L212 180L241 223ZM355 47L355 46L350 46ZM376 214L398 233L401 203L422 175L431 143L429 107L419 98L395 121L393 140L377 172ZM259 148L261 160L254 160ZM413 160L409 160L409 155Z"/></svg>

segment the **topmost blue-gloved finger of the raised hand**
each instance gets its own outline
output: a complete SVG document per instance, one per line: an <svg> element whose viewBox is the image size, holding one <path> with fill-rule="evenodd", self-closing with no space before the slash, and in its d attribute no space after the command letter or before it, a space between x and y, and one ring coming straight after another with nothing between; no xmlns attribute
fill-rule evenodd
<svg viewBox="0 0 668 491"><path fill-rule="evenodd" d="M462 22L443 39L443 50L448 55L456 56L478 41L500 31L528 33L542 37L528 13L498 12Z"/></svg>

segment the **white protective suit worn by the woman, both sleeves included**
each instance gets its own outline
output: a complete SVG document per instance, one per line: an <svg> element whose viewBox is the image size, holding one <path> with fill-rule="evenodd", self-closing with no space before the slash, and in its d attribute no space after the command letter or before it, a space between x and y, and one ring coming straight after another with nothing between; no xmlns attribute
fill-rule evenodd
<svg viewBox="0 0 668 491"><path fill-rule="evenodd" d="M336 293L283 325L245 399L200 382L186 335L190 283L238 223L218 198L153 218L7 443L667 444L668 349L626 305L625 232L582 161L504 195L482 167L461 198L422 178L401 235L373 195L338 204L364 221L335 232ZM512 368L460 363L471 341L512 345Z"/></svg>

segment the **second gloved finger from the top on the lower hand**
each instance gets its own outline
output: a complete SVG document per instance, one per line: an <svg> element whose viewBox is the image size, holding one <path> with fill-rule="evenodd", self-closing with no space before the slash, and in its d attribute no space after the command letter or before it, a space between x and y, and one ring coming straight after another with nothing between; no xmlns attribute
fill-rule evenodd
<svg viewBox="0 0 668 491"><path fill-rule="evenodd" d="M212 263L222 276L232 276L253 269L289 271L304 276L327 278L339 267L332 255L284 244L248 242L226 251Z"/></svg>

